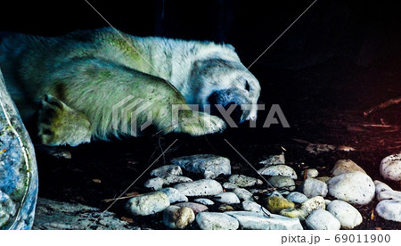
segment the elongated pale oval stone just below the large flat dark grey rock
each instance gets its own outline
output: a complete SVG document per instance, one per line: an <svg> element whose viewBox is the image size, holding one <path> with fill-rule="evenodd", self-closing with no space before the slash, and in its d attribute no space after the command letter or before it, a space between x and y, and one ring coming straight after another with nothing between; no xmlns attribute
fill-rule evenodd
<svg viewBox="0 0 401 246"><path fill-rule="evenodd" d="M176 184L178 192L186 196L208 196L223 193L223 187L213 179L201 179L188 183Z"/></svg>

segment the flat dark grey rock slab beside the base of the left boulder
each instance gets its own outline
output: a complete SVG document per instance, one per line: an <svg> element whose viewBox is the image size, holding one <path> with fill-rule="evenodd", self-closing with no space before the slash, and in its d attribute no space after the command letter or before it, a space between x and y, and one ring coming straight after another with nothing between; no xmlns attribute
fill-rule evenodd
<svg viewBox="0 0 401 246"><path fill-rule="evenodd" d="M96 221L97 220L97 221ZM120 220L114 213L81 205L37 199L34 230L134 230L140 229ZM145 228L142 228L145 229Z"/></svg>

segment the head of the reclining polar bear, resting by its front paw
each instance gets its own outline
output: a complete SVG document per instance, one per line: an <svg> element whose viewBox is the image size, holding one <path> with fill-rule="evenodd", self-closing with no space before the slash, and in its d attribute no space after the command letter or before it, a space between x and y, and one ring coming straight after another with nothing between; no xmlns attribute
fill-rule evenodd
<svg viewBox="0 0 401 246"><path fill-rule="evenodd" d="M260 95L258 79L241 63L232 48L225 47L205 59L195 61L191 80L190 101L201 105L201 110L204 110L204 105L211 105L213 109L213 105L219 104L227 110L230 105L236 104L231 115L235 121L242 123L257 119Z"/></svg>

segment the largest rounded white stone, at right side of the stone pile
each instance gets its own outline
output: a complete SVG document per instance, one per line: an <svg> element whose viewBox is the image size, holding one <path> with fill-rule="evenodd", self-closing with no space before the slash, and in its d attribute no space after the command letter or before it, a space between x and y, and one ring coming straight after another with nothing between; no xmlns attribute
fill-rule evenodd
<svg viewBox="0 0 401 246"><path fill-rule="evenodd" d="M374 197L375 186L372 178L361 172L334 176L327 184L332 196L351 204L364 205Z"/></svg>

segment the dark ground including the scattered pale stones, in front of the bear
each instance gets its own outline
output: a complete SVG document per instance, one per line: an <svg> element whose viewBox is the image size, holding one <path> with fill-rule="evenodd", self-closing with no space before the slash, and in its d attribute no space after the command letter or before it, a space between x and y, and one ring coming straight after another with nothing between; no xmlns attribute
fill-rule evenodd
<svg viewBox="0 0 401 246"><path fill-rule="evenodd" d="M269 81L265 83L267 86L263 88L261 100L267 104L279 103L291 128L242 126L228 129L223 135L196 138L167 135L91 143L78 148L65 148L70 152L65 155L67 159L54 158L37 148L39 196L107 209L170 143L178 139L128 189L122 199L110 207L110 211L120 220L142 229L166 229L184 225L187 229L210 226L255 228L253 226L257 225L264 226L264 229L340 226L355 229L400 229L399 222L385 218L394 219L395 216L389 211L399 211L401 207L397 192L401 191L401 184L381 176L380 166L385 157L401 152L401 111L399 105L394 105L368 117L363 114L372 106L399 96L401 83L397 79L401 78L401 74L397 71L397 66L392 64L394 63L389 61L387 64L372 64L363 68L348 61L334 59L304 70L259 68L261 71L255 71L257 77L261 81L264 78ZM263 74L265 76L260 76ZM266 74L269 76L266 77ZM320 81L324 83L319 83ZM266 119L264 112L259 114L259 121L262 119ZM264 168L259 162L265 161L267 165L270 156L278 156L282 152L285 161L280 158L277 161L282 161L286 168L279 166L278 168L283 168L280 172L274 173L271 168L266 168L262 172L262 178L251 167L257 170ZM220 164L217 165L217 173L213 175L206 171L208 168L189 167L199 161L179 164L179 159L176 159L193 154L214 154L224 158L215 161ZM339 160L352 160L353 162L343 161L346 164L342 165L348 167L352 163L352 168L362 172L339 175L338 172L342 171L333 171ZM176 165L181 171L177 167L172 168L173 177L158 177L155 171L151 172L165 165ZM272 167L277 168L276 165ZM249 187L227 184L236 183L233 175L250 176L255 184ZM307 176L315 177L307 179ZM329 177L331 179L328 181ZM188 182L175 184L177 178L180 182ZM207 182L207 187L216 189L196 191L191 186L201 185L193 184L189 179ZM379 182L373 184L375 180L389 184L391 188ZM266 181L277 187L273 189ZM378 188L378 184L381 188ZM152 193L152 187L163 187L164 190L161 193ZM285 191L288 188L295 190ZM340 196L344 189L350 192L345 197ZM290 195L289 192L303 193L312 201L294 201L293 197L304 200L305 197L299 193ZM171 193L181 194L178 196L181 199L171 200ZM139 194L148 195L143 197L138 196ZM359 195L362 197L358 197ZM182 203L186 202L184 197L196 204ZM393 201L389 201L389 197ZM141 210L141 204L148 204L146 202L151 202L152 199L158 201L157 206L151 211ZM305 202L317 204L317 207L306 208ZM168 206L171 204L174 206ZM269 204L278 204L278 208ZM280 207L283 204L285 206ZM143 207L149 209L148 205ZM344 214L343 211L347 213ZM389 212L387 216L385 211ZM149 213L151 215L141 215ZM340 217L353 219L343 221ZM222 225L215 225L213 221L219 221Z"/></svg>

